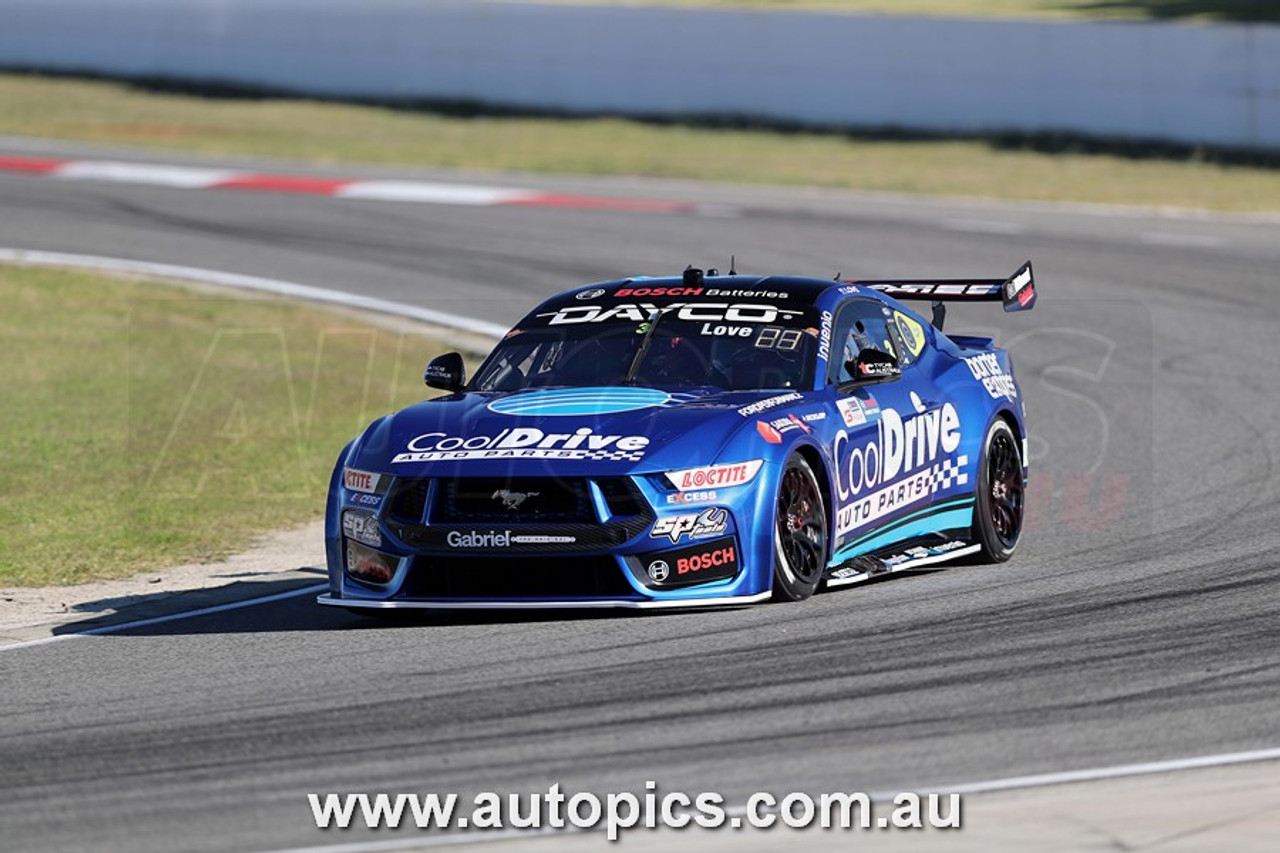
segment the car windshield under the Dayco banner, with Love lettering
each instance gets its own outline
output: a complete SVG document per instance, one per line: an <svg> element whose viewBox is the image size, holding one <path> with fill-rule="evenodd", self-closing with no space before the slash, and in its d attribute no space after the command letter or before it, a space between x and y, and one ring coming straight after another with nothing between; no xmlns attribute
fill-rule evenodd
<svg viewBox="0 0 1280 853"><path fill-rule="evenodd" d="M650 329L653 306L621 307L635 310L602 306L595 315L552 314L550 323L541 319L548 315L527 318L485 360L471 389L620 386L634 362L636 386L748 391L812 383L818 338L812 310L671 305ZM556 323L562 314L570 319Z"/></svg>

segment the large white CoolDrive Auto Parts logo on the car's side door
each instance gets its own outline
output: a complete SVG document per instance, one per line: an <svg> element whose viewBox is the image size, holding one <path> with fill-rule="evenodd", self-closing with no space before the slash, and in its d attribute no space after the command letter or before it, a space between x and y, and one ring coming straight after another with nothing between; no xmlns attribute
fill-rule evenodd
<svg viewBox="0 0 1280 853"><path fill-rule="evenodd" d="M964 484L968 457L945 459L959 447L960 416L951 403L906 420L884 409L876 435L860 447L850 447L847 432L836 433L836 493L841 501L836 534Z"/></svg>

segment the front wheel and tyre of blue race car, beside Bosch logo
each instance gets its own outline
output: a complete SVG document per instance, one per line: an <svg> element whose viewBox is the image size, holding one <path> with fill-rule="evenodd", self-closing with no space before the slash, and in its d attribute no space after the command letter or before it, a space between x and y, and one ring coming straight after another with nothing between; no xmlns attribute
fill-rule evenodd
<svg viewBox="0 0 1280 853"><path fill-rule="evenodd" d="M827 510L809 462L792 456L782 469L773 521L773 599L803 601L827 566Z"/></svg>

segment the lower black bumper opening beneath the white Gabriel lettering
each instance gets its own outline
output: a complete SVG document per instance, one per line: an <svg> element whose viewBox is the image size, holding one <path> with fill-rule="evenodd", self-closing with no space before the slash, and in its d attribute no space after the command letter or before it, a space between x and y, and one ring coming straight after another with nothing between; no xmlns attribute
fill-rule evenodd
<svg viewBox="0 0 1280 853"><path fill-rule="evenodd" d="M613 557L454 557L413 560L411 598L634 598Z"/></svg>

